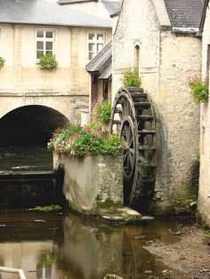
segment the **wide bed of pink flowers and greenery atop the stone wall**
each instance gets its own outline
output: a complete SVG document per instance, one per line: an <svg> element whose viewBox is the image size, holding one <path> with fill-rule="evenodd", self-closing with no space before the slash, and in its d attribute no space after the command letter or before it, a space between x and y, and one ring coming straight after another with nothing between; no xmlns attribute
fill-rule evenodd
<svg viewBox="0 0 210 279"><path fill-rule="evenodd" d="M85 157L88 155L116 156L125 147L125 141L118 135L111 135L97 124L80 127L68 124L57 129L48 143L48 148L58 154Z"/></svg>

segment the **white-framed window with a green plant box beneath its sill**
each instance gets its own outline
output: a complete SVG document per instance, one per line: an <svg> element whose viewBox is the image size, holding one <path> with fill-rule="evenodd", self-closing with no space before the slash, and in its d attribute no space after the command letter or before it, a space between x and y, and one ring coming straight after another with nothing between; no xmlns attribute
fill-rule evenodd
<svg viewBox="0 0 210 279"><path fill-rule="evenodd" d="M36 30L36 60L47 53L54 54L54 31Z"/></svg>

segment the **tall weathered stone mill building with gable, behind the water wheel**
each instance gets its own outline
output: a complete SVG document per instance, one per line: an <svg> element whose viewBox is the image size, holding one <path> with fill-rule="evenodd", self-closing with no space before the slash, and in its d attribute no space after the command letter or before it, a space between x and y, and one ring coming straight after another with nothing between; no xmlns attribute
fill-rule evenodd
<svg viewBox="0 0 210 279"><path fill-rule="evenodd" d="M204 0L124 0L113 38L112 95L136 67L156 113L154 211L188 211L199 146L199 107L189 80L201 72L198 32ZM192 190L192 191L191 191Z"/></svg>

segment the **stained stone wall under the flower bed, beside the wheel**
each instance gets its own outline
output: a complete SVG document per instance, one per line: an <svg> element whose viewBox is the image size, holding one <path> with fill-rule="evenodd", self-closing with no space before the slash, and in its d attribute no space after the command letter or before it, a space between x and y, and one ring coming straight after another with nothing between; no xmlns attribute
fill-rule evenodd
<svg viewBox="0 0 210 279"><path fill-rule="evenodd" d="M101 203L123 203L122 158L95 156L72 158L54 155L54 169L64 168L63 194L80 212L94 213Z"/></svg>

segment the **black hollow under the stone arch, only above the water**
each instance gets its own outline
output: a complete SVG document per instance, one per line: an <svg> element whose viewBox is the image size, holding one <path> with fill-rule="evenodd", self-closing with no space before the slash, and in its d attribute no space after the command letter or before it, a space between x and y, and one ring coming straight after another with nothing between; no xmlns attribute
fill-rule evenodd
<svg viewBox="0 0 210 279"><path fill-rule="evenodd" d="M0 146L45 144L55 128L68 122L68 117L46 106L27 105L12 109L0 118Z"/></svg>

